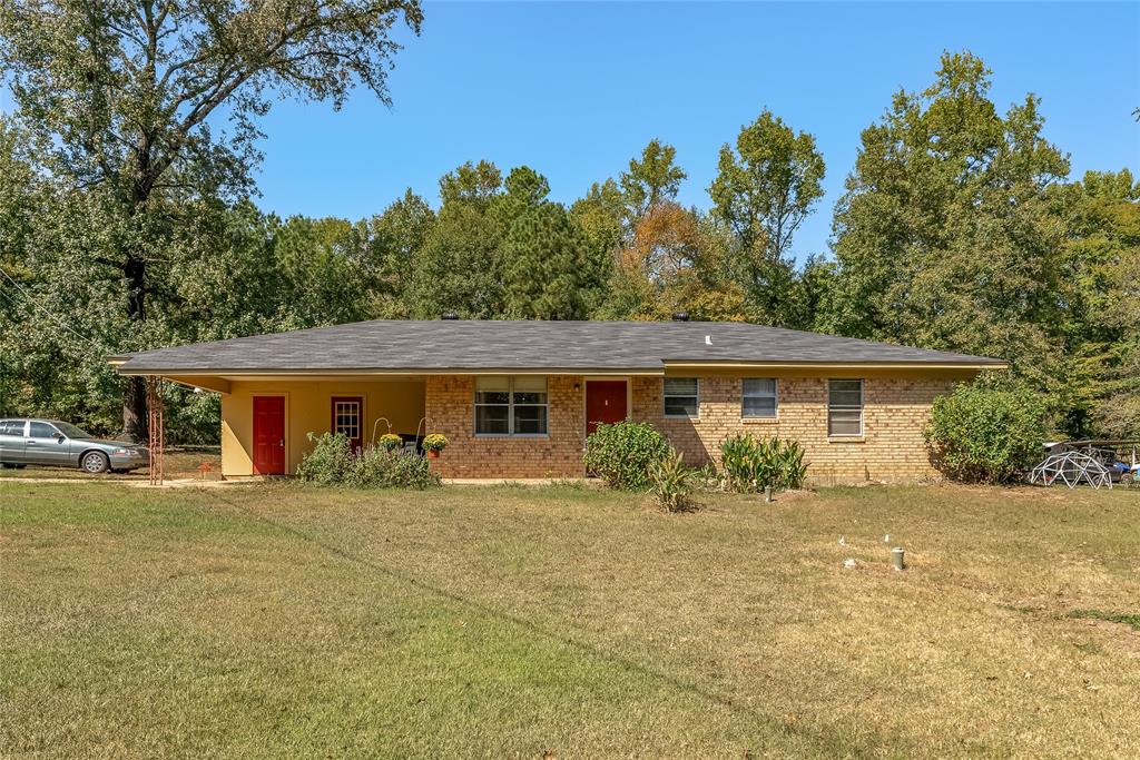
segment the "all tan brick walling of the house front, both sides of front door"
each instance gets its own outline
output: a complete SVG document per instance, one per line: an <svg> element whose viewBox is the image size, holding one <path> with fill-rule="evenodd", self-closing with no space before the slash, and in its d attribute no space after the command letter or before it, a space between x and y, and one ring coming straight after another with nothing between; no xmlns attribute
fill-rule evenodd
<svg viewBox="0 0 1140 760"><path fill-rule="evenodd" d="M828 438L828 382L822 377L781 377L779 417L742 419L740 377L700 378L700 417L666 419L660 377L634 377L630 417L648 422L684 452L685 461L715 459L720 441L749 432L758 438L792 438L806 449L808 475L820 483L863 480L907 481L934 474L922 442L922 427L936 395L952 379L866 378L863 382L861 439ZM576 387L577 386L577 390ZM580 476L585 443L585 378L547 378L548 435L475 436L474 378L433 375L426 382L429 432L450 441L433 467L445 477Z"/></svg>

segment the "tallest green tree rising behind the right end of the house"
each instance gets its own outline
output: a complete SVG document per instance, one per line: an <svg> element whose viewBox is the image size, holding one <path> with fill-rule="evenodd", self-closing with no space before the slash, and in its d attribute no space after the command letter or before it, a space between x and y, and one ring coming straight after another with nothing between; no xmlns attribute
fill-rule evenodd
<svg viewBox="0 0 1140 760"><path fill-rule="evenodd" d="M1029 95L1004 116L991 72L944 54L935 82L898 92L863 131L836 209L840 334L1000 356L1067 393L1058 326L1068 161Z"/></svg>

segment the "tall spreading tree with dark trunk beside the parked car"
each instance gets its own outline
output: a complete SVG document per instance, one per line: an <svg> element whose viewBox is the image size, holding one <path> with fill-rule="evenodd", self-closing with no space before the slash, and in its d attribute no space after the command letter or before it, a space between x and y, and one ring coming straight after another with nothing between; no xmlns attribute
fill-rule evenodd
<svg viewBox="0 0 1140 760"><path fill-rule="evenodd" d="M166 288L176 202L250 191L258 119L270 93L344 103L356 84L388 101L386 75L417 0L9 0L0 60L39 171L104 207L119 235L84 251L122 294L132 325L119 348L146 345L150 301ZM230 129L220 129L220 119ZM111 237L111 236L108 236ZM160 296L161 297L161 296ZM140 379L123 426L146 434Z"/></svg>

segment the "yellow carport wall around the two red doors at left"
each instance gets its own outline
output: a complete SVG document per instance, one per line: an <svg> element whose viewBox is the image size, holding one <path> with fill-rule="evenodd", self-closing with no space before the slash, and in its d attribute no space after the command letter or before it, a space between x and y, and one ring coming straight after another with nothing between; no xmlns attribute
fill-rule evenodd
<svg viewBox="0 0 1140 760"><path fill-rule="evenodd" d="M388 432L412 435L424 415L424 381L258 381L234 382L221 397L221 472L225 476L253 474L253 397L285 397L285 472L296 472L301 456L311 448L308 433L327 433L333 397L364 399L365 442Z"/></svg>

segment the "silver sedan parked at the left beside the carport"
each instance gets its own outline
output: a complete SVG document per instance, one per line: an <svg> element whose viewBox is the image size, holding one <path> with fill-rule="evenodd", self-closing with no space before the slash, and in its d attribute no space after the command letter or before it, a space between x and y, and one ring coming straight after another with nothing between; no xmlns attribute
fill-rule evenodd
<svg viewBox="0 0 1140 760"><path fill-rule="evenodd" d="M146 447L105 441L57 419L0 419L0 465L130 472L149 464Z"/></svg>

